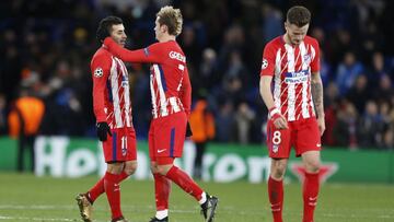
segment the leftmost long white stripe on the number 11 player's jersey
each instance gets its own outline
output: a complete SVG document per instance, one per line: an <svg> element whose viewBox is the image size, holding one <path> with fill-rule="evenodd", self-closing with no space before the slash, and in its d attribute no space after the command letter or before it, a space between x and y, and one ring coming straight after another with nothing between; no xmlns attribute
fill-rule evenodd
<svg viewBox="0 0 394 222"><path fill-rule="evenodd" d="M112 89L112 96L113 96L113 104L114 104L114 114L115 114L115 127L120 128L123 127L121 122L121 110L120 110L120 100L119 100L119 83L118 83L118 72L116 60L112 60L111 66L111 89Z"/></svg>

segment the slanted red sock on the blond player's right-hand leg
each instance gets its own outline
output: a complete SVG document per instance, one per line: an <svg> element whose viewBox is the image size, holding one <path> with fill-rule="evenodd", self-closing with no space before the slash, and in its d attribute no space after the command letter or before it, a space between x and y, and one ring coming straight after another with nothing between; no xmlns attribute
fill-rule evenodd
<svg viewBox="0 0 394 222"><path fill-rule="evenodd" d="M197 201L201 199L202 189L181 168L172 166L165 177L195 197Z"/></svg>

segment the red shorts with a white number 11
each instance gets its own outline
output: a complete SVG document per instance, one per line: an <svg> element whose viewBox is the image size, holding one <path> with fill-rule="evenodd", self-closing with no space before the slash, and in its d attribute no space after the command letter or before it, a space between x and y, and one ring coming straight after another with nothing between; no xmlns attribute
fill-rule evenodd
<svg viewBox="0 0 394 222"><path fill-rule="evenodd" d="M112 129L112 137L103 142L106 163L137 160L137 141L134 128Z"/></svg>

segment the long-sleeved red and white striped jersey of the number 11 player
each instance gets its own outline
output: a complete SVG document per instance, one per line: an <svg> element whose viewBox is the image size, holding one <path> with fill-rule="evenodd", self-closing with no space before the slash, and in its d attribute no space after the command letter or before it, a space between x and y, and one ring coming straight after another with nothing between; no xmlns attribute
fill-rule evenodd
<svg viewBox="0 0 394 222"><path fill-rule="evenodd" d="M125 63L101 47L91 61L96 121L112 129L132 127L128 72Z"/></svg>

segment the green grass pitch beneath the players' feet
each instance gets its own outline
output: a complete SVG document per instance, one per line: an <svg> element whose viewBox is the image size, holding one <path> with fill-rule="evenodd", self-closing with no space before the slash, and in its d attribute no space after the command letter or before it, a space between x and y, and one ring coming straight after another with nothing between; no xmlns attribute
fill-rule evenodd
<svg viewBox="0 0 394 222"><path fill-rule="evenodd" d="M0 174L0 221L81 221L74 197L97 177L78 179L37 178L24 174ZM269 222L266 185L247 183L199 183L220 198L216 222ZM121 184L123 212L130 222L147 222L154 214L153 182L127 180ZM170 200L171 222L201 222L196 201L176 185ZM94 203L97 222L109 221L103 195ZM301 221L299 184L285 187L287 222ZM394 221L393 185L325 184L321 189L316 222Z"/></svg>

